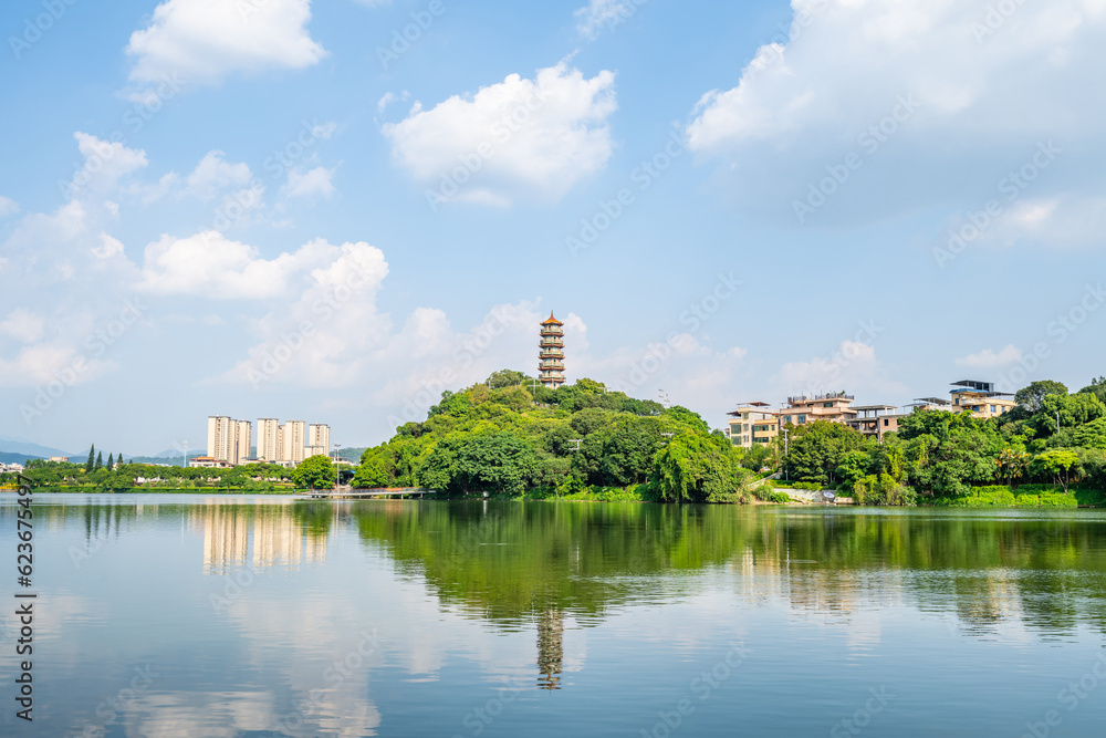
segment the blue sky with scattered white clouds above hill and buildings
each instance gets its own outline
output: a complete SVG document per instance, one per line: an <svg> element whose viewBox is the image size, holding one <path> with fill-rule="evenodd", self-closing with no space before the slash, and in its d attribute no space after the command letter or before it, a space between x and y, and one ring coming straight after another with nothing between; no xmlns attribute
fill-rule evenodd
<svg viewBox="0 0 1106 738"><path fill-rule="evenodd" d="M0 436L376 445L536 372L685 405L1106 373L1106 2L0 11Z"/></svg>

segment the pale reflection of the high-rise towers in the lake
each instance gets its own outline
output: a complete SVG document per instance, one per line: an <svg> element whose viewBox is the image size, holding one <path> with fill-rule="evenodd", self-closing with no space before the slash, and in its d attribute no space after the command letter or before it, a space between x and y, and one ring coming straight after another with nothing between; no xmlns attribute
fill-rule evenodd
<svg viewBox="0 0 1106 738"><path fill-rule="evenodd" d="M327 532L305 530L289 507L210 505L196 511L195 523L204 528L205 574L226 574L247 562L253 569L295 569L326 561Z"/></svg>

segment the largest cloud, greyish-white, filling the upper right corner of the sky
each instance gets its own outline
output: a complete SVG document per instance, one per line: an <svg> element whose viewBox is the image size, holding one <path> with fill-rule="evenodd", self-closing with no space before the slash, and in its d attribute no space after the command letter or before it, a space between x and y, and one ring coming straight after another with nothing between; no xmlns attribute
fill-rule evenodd
<svg viewBox="0 0 1106 738"><path fill-rule="evenodd" d="M989 0L792 7L791 38L761 46L735 86L706 93L687 126L690 149L723 164L718 179L740 208L795 222L794 204L851 154L858 166L800 222L979 207L1039 141L1102 148L1102 2L1018 3L993 29ZM1050 187L1063 185L1036 183L1034 196Z"/></svg>

